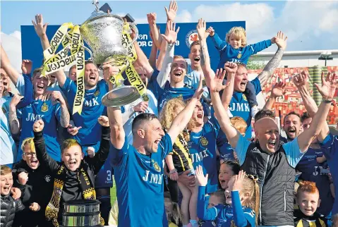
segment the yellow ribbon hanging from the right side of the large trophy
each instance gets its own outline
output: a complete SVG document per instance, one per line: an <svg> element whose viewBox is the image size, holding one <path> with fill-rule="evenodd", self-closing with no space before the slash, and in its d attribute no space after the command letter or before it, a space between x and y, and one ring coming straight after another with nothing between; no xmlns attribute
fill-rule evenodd
<svg viewBox="0 0 338 227"><path fill-rule="evenodd" d="M136 72L133 62L138 59L138 56L136 55L135 47L131 42L133 39L131 39L131 35L129 34L129 23L125 22L123 24L123 30L122 30L122 45L123 47L126 47L128 49L128 56L113 56L111 57L111 63L114 64L114 66L118 67L120 72L116 76L111 76L110 82L113 85L121 85L121 82L123 82L123 76L122 73L125 71L126 76L128 78L128 81L131 83L133 87L135 87L138 90L138 93L140 93L140 96L143 98L145 102L149 100L149 97L147 96L147 87L145 87L145 84L141 80L140 76ZM131 44L131 45L130 45Z"/></svg>

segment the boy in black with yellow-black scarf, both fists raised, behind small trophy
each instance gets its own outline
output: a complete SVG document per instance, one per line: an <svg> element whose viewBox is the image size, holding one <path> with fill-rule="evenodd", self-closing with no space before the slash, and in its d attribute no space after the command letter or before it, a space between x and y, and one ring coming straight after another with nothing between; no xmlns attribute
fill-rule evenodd
<svg viewBox="0 0 338 227"><path fill-rule="evenodd" d="M64 202L69 200L95 200L95 175L106 161L110 147L110 128L107 116L98 118L102 125L102 140L99 151L94 157L84 157L80 144L73 139L65 140L61 145L61 160L57 162L46 152L42 130L44 122L35 121L34 144L37 159L54 173L54 190L46 208L46 218L54 226L62 222ZM103 219L100 219L103 225Z"/></svg>

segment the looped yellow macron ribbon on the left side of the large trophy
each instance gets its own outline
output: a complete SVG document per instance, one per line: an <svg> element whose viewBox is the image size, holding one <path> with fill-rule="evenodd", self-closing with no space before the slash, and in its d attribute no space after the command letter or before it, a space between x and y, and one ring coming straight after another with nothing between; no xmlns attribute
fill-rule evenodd
<svg viewBox="0 0 338 227"><path fill-rule="evenodd" d="M68 31L68 29L70 30ZM60 44L62 44L64 49L55 54ZM69 50L71 52L70 56L68 56ZM73 114L81 114L85 96L85 49L83 49L80 26L64 23L53 36L50 47L44 50L42 75L54 73L75 63L77 91L73 102Z"/></svg>

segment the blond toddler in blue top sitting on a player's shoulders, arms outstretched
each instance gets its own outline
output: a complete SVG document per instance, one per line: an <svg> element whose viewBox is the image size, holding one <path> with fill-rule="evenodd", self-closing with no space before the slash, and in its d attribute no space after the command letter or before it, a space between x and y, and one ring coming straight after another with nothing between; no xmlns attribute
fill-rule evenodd
<svg viewBox="0 0 338 227"><path fill-rule="evenodd" d="M256 44L246 44L246 30L243 27L232 27L227 33L225 41L220 39L212 27L207 29L210 32L212 42L215 44L216 49L219 51L219 64L217 68L224 68L224 63L227 61L242 63L246 65L251 55L257 54L263 49L267 49L271 44L275 43L274 37L267 39ZM251 116L255 116L258 112L258 102L255 95L255 88L251 82L246 84L244 92L251 107Z"/></svg>

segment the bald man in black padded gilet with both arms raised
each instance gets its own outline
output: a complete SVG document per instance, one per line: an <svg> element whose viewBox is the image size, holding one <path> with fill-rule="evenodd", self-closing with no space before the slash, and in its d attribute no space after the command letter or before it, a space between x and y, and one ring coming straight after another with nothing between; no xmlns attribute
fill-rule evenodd
<svg viewBox="0 0 338 227"><path fill-rule="evenodd" d="M236 149L241 169L259 178L260 214L256 214L259 216L258 225L294 226L294 168L308 150L313 137L318 135L325 125L334 90L337 87L334 78L328 77L321 87L317 86L323 99L308 130L298 135L293 141L284 144L279 141L279 128L274 121L274 114L265 116L263 112L266 110L262 110L256 114L256 116L261 115L262 118L254 125L257 141L249 142L231 125L227 111L224 109L224 106L229 105L233 94L237 66L234 63L226 63L225 69L228 73L229 85L225 85L227 88L223 92L223 103L217 93L224 88L222 84L219 85L219 78L224 75L217 73L215 77L210 67L203 67L203 72L211 90L215 115L227 135L229 144ZM322 81L325 80L322 79Z"/></svg>

